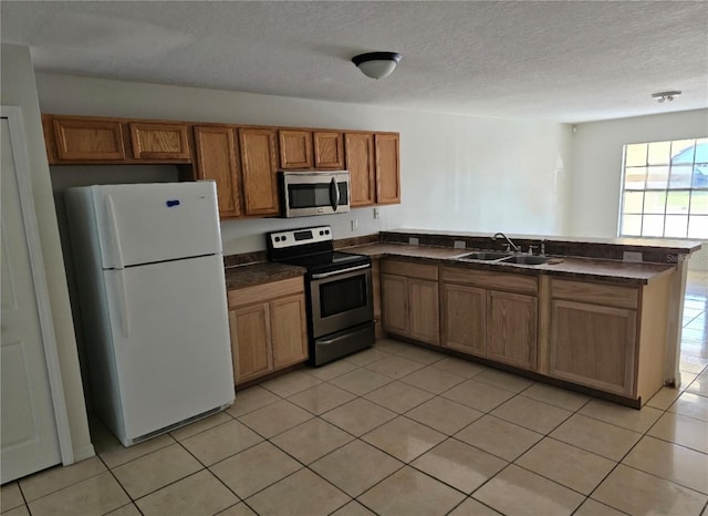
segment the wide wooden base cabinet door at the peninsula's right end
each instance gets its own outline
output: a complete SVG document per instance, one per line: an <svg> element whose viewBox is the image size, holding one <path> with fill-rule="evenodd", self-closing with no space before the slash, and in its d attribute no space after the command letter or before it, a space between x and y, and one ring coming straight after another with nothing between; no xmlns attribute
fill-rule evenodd
<svg viewBox="0 0 708 516"><path fill-rule="evenodd" d="M635 310L554 299L551 375L633 396L636 324Z"/></svg>

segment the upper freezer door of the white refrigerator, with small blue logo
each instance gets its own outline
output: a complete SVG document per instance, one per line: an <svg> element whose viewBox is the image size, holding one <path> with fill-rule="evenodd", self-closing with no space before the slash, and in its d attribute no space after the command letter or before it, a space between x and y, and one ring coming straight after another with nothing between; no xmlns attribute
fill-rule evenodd
<svg viewBox="0 0 708 516"><path fill-rule="evenodd" d="M104 269L221 252L214 182L90 188Z"/></svg>

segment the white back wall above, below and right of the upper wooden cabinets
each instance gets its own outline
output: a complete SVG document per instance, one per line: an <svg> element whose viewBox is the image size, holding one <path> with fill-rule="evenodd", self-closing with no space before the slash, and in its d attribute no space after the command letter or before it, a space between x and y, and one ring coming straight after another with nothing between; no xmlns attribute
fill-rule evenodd
<svg viewBox="0 0 708 516"><path fill-rule="evenodd" d="M566 125L44 73L37 80L45 113L400 133L402 205L382 207L379 219L372 208L360 208L327 217L225 221L226 254L264 249L266 231L311 224L331 224L337 238L398 227L565 231Z"/></svg>

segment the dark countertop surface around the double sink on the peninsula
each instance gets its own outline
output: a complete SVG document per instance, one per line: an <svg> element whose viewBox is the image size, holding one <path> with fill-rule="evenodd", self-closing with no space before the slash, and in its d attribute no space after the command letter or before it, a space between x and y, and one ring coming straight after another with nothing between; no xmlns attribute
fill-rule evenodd
<svg viewBox="0 0 708 516"><path fill-rule="evenodd" d="M670 271L676 267L665 264L631 262L577 257L558 257L552 259L549 264L534 266L481 260L462 261L457 258L471 252L473 249L410 246L407 244L371 244L366 246L350 247L346 250L350 252L368 255L372 258L404 258L480 270L497 270L530 276L544 274L571 279L608 281L625 285L646 285L653 278Z"/></svg>

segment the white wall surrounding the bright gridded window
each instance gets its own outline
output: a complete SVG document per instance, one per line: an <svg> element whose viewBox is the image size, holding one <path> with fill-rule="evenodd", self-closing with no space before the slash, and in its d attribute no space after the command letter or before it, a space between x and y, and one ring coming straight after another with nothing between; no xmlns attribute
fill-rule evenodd
<svg viewBox="0 0 708 516"><path fill-rule="evenodd" d="M623 145L705 136L708 110L579 124L571 147L569 235L617 236ZM695 254L689 267L708 270L706 250Z"/></svg>

